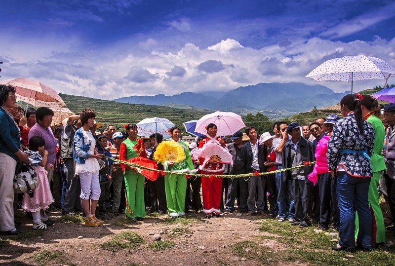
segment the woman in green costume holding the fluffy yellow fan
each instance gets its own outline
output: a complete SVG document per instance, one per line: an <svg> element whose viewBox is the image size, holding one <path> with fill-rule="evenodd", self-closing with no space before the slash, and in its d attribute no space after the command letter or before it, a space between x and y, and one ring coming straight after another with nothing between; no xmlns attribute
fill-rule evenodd
<svg viewBox="0 0 395 266"><path fill-rule="evenodd" d="M181 139L181 129L173 126L170 129L171 138L182 146L185 152L185 160L178 163L165 163L165 170L173 173L166 173L164 176L164 190L166 192L167 210L170 217L180 217L185 215L185 194L187 190L186 173L194 170L194 164L189 153L188 145Z"/></svg>

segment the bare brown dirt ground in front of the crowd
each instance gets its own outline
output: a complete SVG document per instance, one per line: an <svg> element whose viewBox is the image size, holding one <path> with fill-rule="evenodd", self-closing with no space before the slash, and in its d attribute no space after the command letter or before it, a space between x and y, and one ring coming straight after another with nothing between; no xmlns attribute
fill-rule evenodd
<svg viewBox="0 0 395 266"><path fill-rule="evenodd" d="M1 238L0 265L255 266L262 265L262 261L237 256L232 245L254 241L273 249L273 252L286 248L273 238L265 239L267 233L258 229L259 223L269 218L248 217L237 212L211 219L203 219L202 213L188 213L186 218L175 220L167 215L147 216L139 222L119 216L98 228L67 222L57 209L50 209L49 217L56 222L46 231L33 230L32 221L25 217L21 227L24 234ZM116 252L99 246L125 231L136 232L145 243ZM154 240L158 236L161 240ZM163 240L173 241L175 246L160 251L150 248L150 244ZM285 264L302 265L298 262L276 262L276 265Z"/></svg>

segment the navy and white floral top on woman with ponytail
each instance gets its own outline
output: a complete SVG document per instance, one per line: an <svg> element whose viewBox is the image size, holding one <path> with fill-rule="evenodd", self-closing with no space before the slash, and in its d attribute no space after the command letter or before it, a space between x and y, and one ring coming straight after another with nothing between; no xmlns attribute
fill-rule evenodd
<svg viewBox="0 0 395 266"><path fill-rule="evenodd" d="M369 156L373 151L374 130L372 125L363 120L363 135L359 132L354 112L336 122L332 136L328 142L328 168L331 171L343 166L349 175L355 177L372 177L370 158L358 151L367 151ZM342 152L342 150L356 151Z"/></svg>

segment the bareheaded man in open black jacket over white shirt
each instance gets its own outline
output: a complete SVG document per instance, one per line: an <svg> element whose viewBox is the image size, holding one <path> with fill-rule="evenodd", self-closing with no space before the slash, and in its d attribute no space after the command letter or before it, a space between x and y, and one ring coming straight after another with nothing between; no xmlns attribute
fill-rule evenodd
<svg viewBox="0 0 395 266"><path fill-rule="evenodd" d="M257 132L255 127L248 126L245 129L245 134L250 138L250 141L243 144L241 147L241 158L244 163L245 173L266 172L264 166L266 151L263 146L259 146ZM266 177L261 175L250 176L247 180L248 183L248 198L247 215L257 214L266 216L265 214L265 184ZM256 199L256 200L255 200ZM255 204L256 202L256 204Z"/></svg>

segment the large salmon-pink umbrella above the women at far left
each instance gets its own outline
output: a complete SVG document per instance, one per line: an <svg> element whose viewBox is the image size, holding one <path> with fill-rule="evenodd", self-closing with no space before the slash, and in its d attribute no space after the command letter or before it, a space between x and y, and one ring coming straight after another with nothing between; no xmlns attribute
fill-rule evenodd
<svg viewBox="0 0 395 266"><path fill-rule="evenodd" d="M40 81L18 77L4 80L1 83L14 86L18 100L33 106L53 107L60 110L62 106L66 105L53 88Z"/></svg>

